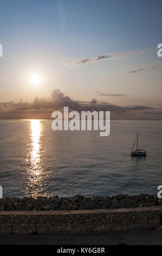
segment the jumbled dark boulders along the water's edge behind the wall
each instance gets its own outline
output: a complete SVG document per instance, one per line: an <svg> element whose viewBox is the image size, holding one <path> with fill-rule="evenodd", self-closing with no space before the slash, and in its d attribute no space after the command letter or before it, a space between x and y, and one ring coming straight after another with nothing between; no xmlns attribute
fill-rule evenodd
<svg viewBox="0 0 162 256"><path fill-rule="evenodd" d="M0 199L0 211L56 211L95 210L162 206L162 200L149 194L129 196L118 194L109 197L7 197Z"/></svg>

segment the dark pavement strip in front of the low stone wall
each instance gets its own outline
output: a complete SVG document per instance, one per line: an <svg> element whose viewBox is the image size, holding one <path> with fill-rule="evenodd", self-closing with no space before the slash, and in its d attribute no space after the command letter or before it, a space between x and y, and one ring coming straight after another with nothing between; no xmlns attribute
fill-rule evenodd
<svg viewBox="0 0 162 256"><path fill-rule="evenodd" d="M162 230L86 234L0 234L0 245L162 245Z"/></svg>

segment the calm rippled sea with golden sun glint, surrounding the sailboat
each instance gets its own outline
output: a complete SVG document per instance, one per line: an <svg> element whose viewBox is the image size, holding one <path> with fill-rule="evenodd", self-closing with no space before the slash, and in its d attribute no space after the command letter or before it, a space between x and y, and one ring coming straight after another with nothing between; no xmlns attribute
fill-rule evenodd
<svg viewBox="0 0 162 256"><path fill-rule="evenodd" d="M4 196L157 194L162 121L111 120L111 133L53 131L51 120L0 120ZM131 157L137 131L146 157Z"/></svg>

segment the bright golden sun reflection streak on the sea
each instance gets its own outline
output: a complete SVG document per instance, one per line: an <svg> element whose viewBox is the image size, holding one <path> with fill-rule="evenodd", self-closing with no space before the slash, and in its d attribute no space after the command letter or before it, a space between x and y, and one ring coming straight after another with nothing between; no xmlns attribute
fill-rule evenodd
<svg viewBox="0 0 162 256"><path fill-rule="evenodd" d="M30 120L29 135L30 142L27 146L27 172L28 186L27 196L36 197L42 194L44 179L43 162L42 162L42 124L40 120Z"/></svg>

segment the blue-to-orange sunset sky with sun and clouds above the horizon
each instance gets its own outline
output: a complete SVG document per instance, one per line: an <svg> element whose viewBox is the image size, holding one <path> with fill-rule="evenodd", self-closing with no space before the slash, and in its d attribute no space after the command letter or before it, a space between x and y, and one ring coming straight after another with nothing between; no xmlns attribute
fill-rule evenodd
<svg viewBox="0 0 162 256"><path fill-rule="evenodd" d="M1 0L0 118L162 118L160 0ZM65 105L67 104L67 105Z"/></svg>

